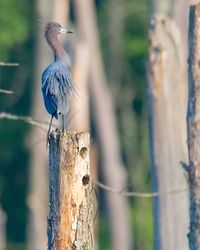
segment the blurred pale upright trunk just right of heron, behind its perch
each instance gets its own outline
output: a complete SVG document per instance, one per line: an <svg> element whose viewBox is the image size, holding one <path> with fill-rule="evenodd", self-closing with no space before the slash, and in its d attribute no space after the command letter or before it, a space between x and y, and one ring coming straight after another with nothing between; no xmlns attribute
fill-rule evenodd
<svg viewBox="0 0 200 250"><path fill-rule="evenodd" d="M72 97L69 129L73 131L90 131L90 96L89 96L89 66L90 52L87 42L78 39L74 45L74 61L73 61L73 81L75 85L74 95ZM98 151L96 150L94 141L90 146L90 166L91 176L93 179L98 177ZM94 199L94 206L98 206ZM96 208L97 209L97 208ZM98 220L95 218L94 239L97 241ZM96 246L97 247L97 246Z"/></svg>

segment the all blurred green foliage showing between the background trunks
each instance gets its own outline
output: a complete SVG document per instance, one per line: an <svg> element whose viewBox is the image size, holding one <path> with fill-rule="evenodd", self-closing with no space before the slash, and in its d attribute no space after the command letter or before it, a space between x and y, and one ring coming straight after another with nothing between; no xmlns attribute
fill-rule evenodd
<svg viewBox="0 0 200 250"><path fill-rule="evenodd" d="M119 81L111 74L112 37L108 21L108 0L96 1L101 46L110 89L113 94L121 152L128 172L128 188L150 190L146 115L147 0L118 1L121 19ZM34 66L35 1L0 1L0 61L19 62L20 67L0 67L0 87L13 89L14 95L0 96L0 111L29 115ZM29 152L25 145L30 127L21 122L0 120L0 203L8 216L8 249L25 249L28 209ZM130 199L134 249L153 249L152 203ZM106 208L101 207L99 249L110 249Z"/></svg>

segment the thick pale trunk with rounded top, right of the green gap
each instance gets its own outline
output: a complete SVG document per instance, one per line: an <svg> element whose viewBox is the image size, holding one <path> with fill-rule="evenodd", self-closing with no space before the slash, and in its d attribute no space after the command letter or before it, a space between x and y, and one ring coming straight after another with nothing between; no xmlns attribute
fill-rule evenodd
<svg viewBox="0 0 200 250"><path fill-rule="evenodd" d="M153 191L187 189L180 162L187 163L186 79L176 23L163 15L151 20L148 111ZM186 250L187 193L154 199L154 249ZM176 204L176 205L175 205Z"/></svg>

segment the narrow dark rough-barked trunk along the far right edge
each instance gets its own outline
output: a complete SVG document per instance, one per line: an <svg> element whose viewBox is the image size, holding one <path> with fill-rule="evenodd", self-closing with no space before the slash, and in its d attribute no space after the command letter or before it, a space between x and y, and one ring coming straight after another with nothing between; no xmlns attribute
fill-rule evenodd
<svg viewBox="0 0 200 250"><path fill-rule="evenodd" d="M190 7L187 113L191 250L200 249L200 4Z"/></svg>

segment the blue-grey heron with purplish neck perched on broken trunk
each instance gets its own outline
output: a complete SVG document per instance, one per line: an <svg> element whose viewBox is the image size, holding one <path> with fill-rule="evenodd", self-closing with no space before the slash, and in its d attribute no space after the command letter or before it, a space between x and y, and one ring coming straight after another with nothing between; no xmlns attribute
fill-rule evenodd
<svg viewBox="0 0 200 250"><path fill-rule="evenodd" d="M70 108L73 90L70 57L58 40L59 34L71 34L59 23L48 22L45 26L45 38L54 53L54 62L42 73L42 94L47 112L51 115L47 132L47 145L53 118L61 117L62 130L65 129L65 117Z"/></svg>

